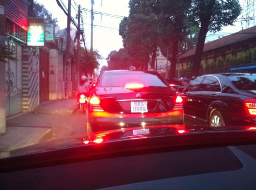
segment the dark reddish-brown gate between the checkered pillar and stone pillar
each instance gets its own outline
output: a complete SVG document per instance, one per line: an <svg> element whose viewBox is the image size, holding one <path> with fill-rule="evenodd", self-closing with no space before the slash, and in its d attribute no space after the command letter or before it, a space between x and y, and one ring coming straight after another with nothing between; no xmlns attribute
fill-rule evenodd
<svg viewBox="0 0 256 190"><path fill-rule="evenodd" d="M40 48L39 55L39 91L40 102L43 102L49 100L49 52L46 48Z"/></svg>

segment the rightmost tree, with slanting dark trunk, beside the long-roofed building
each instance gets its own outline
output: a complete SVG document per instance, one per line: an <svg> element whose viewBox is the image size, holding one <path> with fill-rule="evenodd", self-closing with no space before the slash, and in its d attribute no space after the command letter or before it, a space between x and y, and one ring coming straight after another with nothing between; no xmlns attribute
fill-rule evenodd
<svg viewBox="0 0 256 190"><path fill-rule="evenodd" d="M239 0L193 0L191 15L200 27L192 75L198 76L205 37L209 32L218 32L222 27L233 25L242 11Z"/></svg>

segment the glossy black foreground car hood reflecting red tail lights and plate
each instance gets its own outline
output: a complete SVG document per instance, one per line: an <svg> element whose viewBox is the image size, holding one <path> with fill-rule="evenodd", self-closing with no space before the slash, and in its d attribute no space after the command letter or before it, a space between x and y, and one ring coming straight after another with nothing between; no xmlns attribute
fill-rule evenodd
<svg viewBox="0 0 256 190"><path fill-rule="evenodd" d="M19 156L26 154L33 154L39 152L54 151L60 149L67 149L72 147L81 146L97 146L98 144L106 143L120 143L120 141L134 141L152 140L154 139L154 146L179 146L190 145L193 143L222 143L232 140L230 134L234 134L235 140L238 142L240 139L244 140L243 134L252 134L253 139L256 139L256 127L240 127L240 126L225 126L225 127L210 127L210 126L185 126L185 125L166 125L166 126L149 126L149 127L134 127L123 128L111 131L97 132L86 135L77 135L67 138L55 139L52 141L35 144L22 149L17 149L4 154L2 157ZM237 135L239 134L239 135ZM193 136L198 135L200 138ZM250 135L249 135L250 136ZM216 138L217 137L217 138ZM230 137L230 138L227 138ZM161 142L162 139L169 139L169 141ZM192 138L193 141L188 139ZM204 139L205 138L205 139ZM247 138L247 137L246 137ZM175 139L170 143L170 139ZM182 139L182 141L180 141ZM184 141L185 139L185 141ZM247 139L250 140L250 139ZM150 148L150 144L145 144L143 147L138 144L140 148ZM122 147L122 150L129 149L130 147Z"/></svg>

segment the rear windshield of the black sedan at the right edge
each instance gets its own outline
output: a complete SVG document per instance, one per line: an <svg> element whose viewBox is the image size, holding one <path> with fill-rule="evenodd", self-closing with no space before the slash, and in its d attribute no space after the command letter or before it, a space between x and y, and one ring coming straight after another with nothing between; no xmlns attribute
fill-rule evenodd
<svg viewBox="0 0 256 190"><path fill-rule="evenodd" d="M238 90L256 90L256 75L227 76Z"/></svg>

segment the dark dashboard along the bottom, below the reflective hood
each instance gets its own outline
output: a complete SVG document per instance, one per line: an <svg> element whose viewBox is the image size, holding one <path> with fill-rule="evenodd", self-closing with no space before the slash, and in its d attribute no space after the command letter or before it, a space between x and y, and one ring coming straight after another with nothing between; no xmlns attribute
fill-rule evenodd
<svg viewBox="0 0 256 190"><path fill-rule="evenodd" d="M0 173L1 189L256 189L256 145L116 155Z"/></svg>

